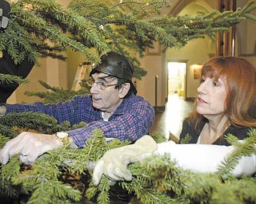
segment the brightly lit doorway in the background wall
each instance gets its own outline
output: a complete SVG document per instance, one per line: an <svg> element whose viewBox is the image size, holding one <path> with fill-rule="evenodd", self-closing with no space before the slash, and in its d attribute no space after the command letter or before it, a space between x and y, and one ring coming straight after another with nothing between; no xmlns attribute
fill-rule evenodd
<svg viewBox="0 0 256 204"><path fill-rule="evenodd" d="M168 61L168 98L177 95L186 100L186 62Z"/></svg>

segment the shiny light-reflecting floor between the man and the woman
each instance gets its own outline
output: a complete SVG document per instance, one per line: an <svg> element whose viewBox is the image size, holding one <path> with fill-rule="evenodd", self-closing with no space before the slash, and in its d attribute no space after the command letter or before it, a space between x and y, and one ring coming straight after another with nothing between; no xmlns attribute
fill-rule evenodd
<svg viewBox="0 0 256 204"><path fill-rule="evenodd" d="M169 138L170 132L179 137L182 130L182 120L192 111L194 102L183 100L177 94L170 95L166 103L164 112L157 112L152 131L158 131L166 138Z"/></svg>

